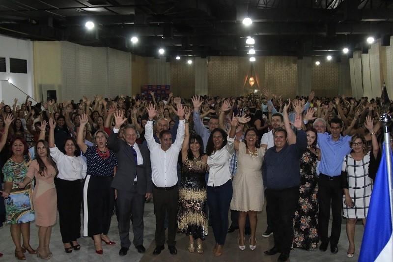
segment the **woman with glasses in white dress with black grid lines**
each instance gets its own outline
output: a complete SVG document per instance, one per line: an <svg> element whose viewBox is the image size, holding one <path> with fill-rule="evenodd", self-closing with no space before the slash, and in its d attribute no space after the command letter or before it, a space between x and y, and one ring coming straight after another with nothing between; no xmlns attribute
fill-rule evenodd
<svg viewBox="0 0 393 262"><path fill-rule="evenodd" d="M347 220L346 232L349 240L348 258L352 258L355 253L355 224L358 219L362 219L363 225L366 222L373 185L368 175L368 165L370 158L375 159L379 150L371 116L367 116L365 127L370 132L372 150L366 152L365 137L355 134L349 142L352 152L346 155L342 162L341 177L345 193L343 209Z"/></svg>

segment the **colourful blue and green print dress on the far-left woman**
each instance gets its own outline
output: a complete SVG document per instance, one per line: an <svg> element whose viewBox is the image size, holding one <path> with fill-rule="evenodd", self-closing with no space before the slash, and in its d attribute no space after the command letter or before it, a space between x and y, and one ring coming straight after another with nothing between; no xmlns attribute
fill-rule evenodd
<svg viewBox="0 0 393 262"><path fill-rule="evenodd" d="M10 224L27 223L35 219L32 202L32 185L29 183L20 189L15 182L22 182L28 172L31 160L29 156L24 161L15 163L11 159L4 164L5 182L13 182L9 198L5 200L6 222Z"/></svg>

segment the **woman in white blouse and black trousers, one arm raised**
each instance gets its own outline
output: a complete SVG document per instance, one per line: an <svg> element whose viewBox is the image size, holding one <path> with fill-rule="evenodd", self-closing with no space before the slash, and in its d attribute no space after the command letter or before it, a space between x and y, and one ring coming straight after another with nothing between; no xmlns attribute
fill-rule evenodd
<svg viewBox="0 0 393 262"><path fill-rule="evenodd" d="M80 250L82 182L86 176L86 162L74 138L67 138L61 151L55 145L56 122L49 119L49 147L58 175L55 179L60 233L66 253Z"/></svg>

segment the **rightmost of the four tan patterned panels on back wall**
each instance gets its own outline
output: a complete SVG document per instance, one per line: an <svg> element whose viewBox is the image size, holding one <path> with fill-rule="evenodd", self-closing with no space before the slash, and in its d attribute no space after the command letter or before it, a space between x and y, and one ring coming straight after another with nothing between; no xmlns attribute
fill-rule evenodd
<svg viewBox="0 0 393 262"><path fill-rule="evenodd" d="M321 62L319 65L315 64L317 60ZM339 95L339 71L339 63L313 58L311 90L315 92L316 96L332 97Z"/></svg>

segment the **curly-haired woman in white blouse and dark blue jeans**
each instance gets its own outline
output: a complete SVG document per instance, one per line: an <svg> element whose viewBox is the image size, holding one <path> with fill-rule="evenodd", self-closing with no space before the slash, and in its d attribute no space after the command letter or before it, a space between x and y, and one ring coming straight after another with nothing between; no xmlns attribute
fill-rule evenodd
<svg viewBox="0 0 393 262"><path fill-rule="evenodd" d="M232 117L229 136L224 130L214 129L207 141L209 178L206 186L207 204L211 212L213 234L216 244L213 248L215 257L223 254L226 232L228 229L228 211L232 199L232 177L229 160L234 153L233 141L236 127L244 123L244 117Z"/></svg>

